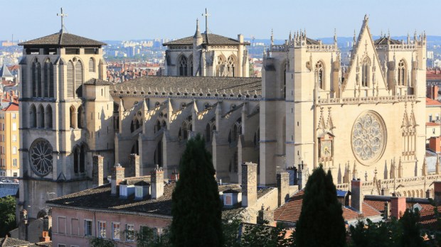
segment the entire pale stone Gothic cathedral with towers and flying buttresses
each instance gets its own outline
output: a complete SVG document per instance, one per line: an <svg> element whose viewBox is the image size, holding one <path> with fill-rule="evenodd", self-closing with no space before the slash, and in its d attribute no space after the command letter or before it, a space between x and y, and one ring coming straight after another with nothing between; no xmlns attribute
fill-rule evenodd
<svg viewBox="0 0 441 247"><path fill-rule="evenodd" d="M18 210L31 217L48 199L95 186L92 155L105 176L117 164L137 175L136 159L139 175L159 165L170 177L197 133L220 182L241 182L243 162L257 163L259 185L323 164L342 190L360 178L371 194L372 181L425 175L425 35L373 40L365 17L345 70L336 38L300 32L272 44L262 78L250 78L243 36L196 23L193 36L164 43L167 76L118 84L105 78L105 43L62 28L20 45Z"/></svg>

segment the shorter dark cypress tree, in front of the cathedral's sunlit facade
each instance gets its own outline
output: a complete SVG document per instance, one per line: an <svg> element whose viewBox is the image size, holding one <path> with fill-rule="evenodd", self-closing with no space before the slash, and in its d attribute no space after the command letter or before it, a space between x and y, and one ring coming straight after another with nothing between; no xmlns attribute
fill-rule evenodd
<svg viewBox="0 0 441 247"><path fill-rule="evenodd" d="M343 210L337 200L331 172L322 165L309 177L296 225L297 246L346 246Z"/></svg>

